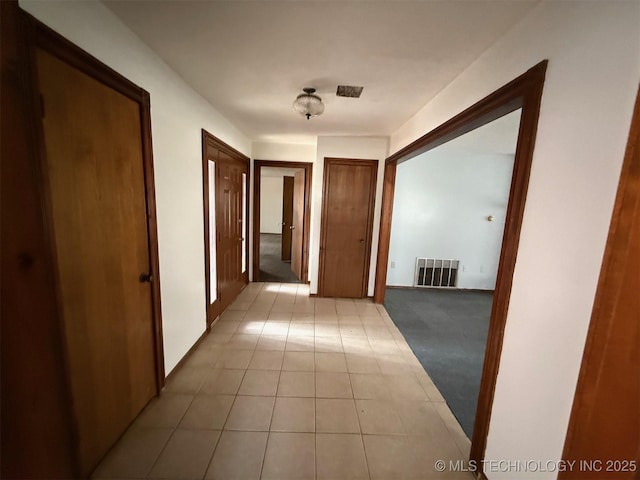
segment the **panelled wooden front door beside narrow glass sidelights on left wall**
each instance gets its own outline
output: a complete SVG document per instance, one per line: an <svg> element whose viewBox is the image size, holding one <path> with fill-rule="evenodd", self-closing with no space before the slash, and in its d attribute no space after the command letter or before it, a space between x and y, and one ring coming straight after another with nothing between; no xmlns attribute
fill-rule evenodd
<svg viewBox="0 0 640 480"><path fill-rule="evenodd" d="M216 164L218 293L221 311L247 284L246 182L248 167L220 151ZM244 268L243 268L244 267Z"/></svg>

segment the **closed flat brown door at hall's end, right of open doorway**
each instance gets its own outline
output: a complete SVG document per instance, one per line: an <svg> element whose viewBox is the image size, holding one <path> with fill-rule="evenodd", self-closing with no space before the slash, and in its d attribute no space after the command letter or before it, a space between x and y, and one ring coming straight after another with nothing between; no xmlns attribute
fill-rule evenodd
<svg viewBox="0 0 640 480"><path fill-rule="evenodd" d="M377 160L325 158L319 295L367 294Z"/></svg>

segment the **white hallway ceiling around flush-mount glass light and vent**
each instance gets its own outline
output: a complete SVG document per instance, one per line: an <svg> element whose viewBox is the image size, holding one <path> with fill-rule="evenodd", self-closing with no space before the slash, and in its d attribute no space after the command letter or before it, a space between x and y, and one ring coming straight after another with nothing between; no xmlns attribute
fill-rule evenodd
<svg viewBox="0 0 640 480"><path fill-rule="evenodd" d="M536 3L105 0L250 139L288 143L393 133ZM292 110L303 87L322 116Z"/></svg>

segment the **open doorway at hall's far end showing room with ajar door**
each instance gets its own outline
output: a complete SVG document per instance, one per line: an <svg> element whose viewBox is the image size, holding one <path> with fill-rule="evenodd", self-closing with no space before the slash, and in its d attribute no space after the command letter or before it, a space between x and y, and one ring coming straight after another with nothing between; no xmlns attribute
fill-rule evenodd
<svg viewBox="0 0 640 480"><path fill-rule="evenodd" d="M311 164L254 164L253 280L306 283Z"/></svg>

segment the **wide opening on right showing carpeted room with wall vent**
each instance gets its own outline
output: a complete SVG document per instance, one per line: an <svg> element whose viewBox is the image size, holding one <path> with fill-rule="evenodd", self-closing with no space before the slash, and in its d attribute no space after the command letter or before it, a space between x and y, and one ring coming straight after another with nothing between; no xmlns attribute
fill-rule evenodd
<svg viewBox="0 0 640 480"><path fill-rule="evenodd" d="M473 436L521 109L400 165L385 307Z"/></svg>

